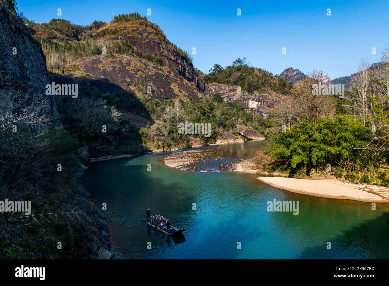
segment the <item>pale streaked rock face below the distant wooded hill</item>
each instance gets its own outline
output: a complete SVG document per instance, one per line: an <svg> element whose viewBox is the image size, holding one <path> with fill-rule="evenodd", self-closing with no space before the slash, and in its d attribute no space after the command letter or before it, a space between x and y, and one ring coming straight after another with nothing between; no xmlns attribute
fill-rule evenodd
<svg viewBox="0 0 389 286"><path fill-rule="evenodd" d="M284 98L284 95L272 93L256 94L256 93L239 93L236 87L228 87L225 84L211 83L209 85L210 94L219 93L223 100L237 102L247 109L254 109L259 112L264 118L268 117L270 110L276 104L279 104Z"/></svg>

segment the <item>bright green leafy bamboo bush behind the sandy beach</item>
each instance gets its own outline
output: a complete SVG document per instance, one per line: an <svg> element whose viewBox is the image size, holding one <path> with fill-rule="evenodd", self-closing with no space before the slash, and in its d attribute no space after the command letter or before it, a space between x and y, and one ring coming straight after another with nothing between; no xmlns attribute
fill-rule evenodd
<svg viewBox="0 0 389 286"><path fill-rule="evenodd" d="M291 130L280 132L269 147L278 166L285 166L291 173L324 168L328 163L347 172L362 172L372 168L375 158L361 156L360 149L370 142L371 133L350 116L335 119L321 118L317 123L302 121ZM340 176L340 170L338 171Z"/></svg>

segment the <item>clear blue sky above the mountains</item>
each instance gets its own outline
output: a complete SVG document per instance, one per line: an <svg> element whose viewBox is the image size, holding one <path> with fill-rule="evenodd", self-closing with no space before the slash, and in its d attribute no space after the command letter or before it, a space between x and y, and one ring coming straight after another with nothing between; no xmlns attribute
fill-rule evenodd
<svg viewBox="0 0 389 286"><path fill-rule="evenodd" d="M110 21L114 15L152 15L166 37L191 53L195 67L208 72L246 57L254 67L280 74L323 70L334 79L350 75L361 58L380 59L389 42L389 1L130 1L17 0L19 11L36 23L63 18L78 25ZM57 16L57 9L62 16ZM242 16L237 16L240 8ZM327 16L327 9L331 16ZM286 47L286 54L281 54ZM371 48L376 54L371 54Z"/></svg>

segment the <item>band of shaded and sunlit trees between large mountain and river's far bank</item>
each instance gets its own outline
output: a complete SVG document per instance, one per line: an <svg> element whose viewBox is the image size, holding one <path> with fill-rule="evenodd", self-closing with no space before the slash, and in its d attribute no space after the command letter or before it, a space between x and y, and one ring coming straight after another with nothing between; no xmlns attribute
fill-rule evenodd
<svg viewBox="0 0 389 286"><path fill-rule="evenodd" d="M79 142L83 161L109 154L137 154L149 149L214 143L223 132L237 136L237 126L248 126L259 132L266 128L262 116L238 104L222 102L218 94L206 97L202 103L181 99L161 102L147 97L147 86L142 80L135 83L135 88L140 98L131 90L110 94L95 88L81 90L77 101L57 98L65 129ZM128 118L134 116L143 123L138 126L131 123ZM210 123L210 137L179 134L178 123L186 120ZM102 132L103 125L107 128L106 133Z"/></svg>

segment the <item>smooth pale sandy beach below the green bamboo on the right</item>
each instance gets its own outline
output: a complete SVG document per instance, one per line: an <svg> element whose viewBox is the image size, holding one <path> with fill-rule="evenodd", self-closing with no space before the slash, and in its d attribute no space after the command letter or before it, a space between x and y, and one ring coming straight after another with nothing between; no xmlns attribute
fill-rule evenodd
<svg viewBox="0 0 389 286"><path fill-rule="evenodd" d="M366 186L335 180L309 180L285 177L256 178L275 188L313 197L357 200L361 202L389 202L389 188Z"/></svg>

